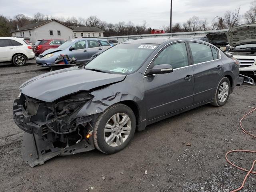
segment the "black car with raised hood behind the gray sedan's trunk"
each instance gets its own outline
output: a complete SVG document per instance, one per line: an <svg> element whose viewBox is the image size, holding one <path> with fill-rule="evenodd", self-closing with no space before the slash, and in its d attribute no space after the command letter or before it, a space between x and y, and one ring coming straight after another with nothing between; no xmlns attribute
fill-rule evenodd
<svg viewBox="0 0 256 192"><path fill-rule="evenodd" d="M226 47L226 45L228 44L228 38L226 33L208 33L206 37L208 38L209 43L215 45L218 48Z"/></svg>

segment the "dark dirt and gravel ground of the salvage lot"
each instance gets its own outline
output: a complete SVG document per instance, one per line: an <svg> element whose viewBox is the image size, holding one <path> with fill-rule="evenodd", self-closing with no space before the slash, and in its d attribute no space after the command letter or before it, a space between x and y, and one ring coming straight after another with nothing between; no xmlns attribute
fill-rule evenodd
<svg viewBox="0 0 256 192"><path fill-rule="evenodd" d="M23 132L12 119L12 103L22 82L48 71L34 64L0 66L1 192L228 192L242 184L246 172L230 166L225 154L256 150L256 139L239 126L240 118L256 106L256 86L246 84L237 86L221 108L209 104L136 132L116 154L93 150L31 168L20 154ZM254 135L255 115L243 123ZM229 158L250 169L256 154L233 153ZM256 191L255 174L241 191Z"/></svg>

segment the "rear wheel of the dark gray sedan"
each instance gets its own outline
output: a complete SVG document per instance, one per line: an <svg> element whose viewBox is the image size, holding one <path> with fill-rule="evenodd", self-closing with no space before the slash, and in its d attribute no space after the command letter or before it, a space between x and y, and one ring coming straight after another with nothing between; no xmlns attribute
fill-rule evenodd
<svg viewBox="0 0 256 192"><path fill-rule="evenodd" d="M230 81L227 77L224 77L220 80L218 87L215 92L214 102L212 103L214 106L224 106L228 101L230 95Z"/></svg>

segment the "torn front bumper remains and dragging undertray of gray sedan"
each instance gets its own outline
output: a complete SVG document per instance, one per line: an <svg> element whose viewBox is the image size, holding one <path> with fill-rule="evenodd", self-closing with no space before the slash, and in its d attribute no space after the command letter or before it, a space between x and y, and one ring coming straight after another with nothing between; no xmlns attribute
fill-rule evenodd
<svg viewBox="0 0 256 192"><path fill-rule="evenodd" d="M39 107L40 104L38 104ZM38 112L38 108L36 112ZM46 122L42 119L33 120L34 116L26 112L20 99L14 101L13 119L16 125L26 132L22 138L21 154L24 162L31 167L44 164L45 161L58 155L71 155L94 149L92 137L86 138L83 134L81 134L83 138L74 144L67 144L64 147L54 146L56 135L48 129ZM47 136L50 139L47 140Z"/></svg>

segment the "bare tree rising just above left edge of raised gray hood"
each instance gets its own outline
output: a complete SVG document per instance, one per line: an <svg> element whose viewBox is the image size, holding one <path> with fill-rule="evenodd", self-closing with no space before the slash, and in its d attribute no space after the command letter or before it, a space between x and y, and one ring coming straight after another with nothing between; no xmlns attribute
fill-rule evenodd
<svg viewBox="0 0 256 192"><path fill-rule="evenodd" d="M226 27L234 27L238 26L240 22L240 7L236 8L235 11L228 10L224 15L224 22L226 24Z"/></svg>

